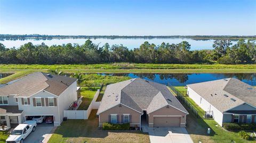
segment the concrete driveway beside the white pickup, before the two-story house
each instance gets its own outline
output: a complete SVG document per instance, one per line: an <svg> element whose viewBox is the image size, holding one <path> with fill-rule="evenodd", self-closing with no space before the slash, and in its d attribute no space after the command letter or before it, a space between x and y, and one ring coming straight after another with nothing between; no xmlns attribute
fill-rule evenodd
<svg viewBox="0 0 256 143"><path fill-rule="evenodd" d="M41 143L47 142L51 137L51 132L54 129L53 126L37 125L36 131L31 132L29 136L24 140L25 143Z"/></svg>

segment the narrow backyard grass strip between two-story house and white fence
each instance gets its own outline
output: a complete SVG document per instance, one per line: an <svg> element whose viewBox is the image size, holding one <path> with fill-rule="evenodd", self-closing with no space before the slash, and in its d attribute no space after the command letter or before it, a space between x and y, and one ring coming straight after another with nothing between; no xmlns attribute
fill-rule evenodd
<svg viewBox="0 0 256 143"><path fill-rule="evenodd" d="M87 110L97 92L97 89L100 89L100 87L81 87L81 96L83 97L83 102L77 108L77 110Z"/></svg>

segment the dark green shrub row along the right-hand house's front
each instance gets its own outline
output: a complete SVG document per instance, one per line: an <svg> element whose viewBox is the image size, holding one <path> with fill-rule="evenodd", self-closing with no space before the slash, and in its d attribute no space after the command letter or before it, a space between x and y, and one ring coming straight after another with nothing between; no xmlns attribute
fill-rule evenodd
<svg viewBox="0 0 256 143"><path fill-rule="evenodd" d="M254 130L256 128L256 124L223 123L223 128L229 131Z"/></svg>

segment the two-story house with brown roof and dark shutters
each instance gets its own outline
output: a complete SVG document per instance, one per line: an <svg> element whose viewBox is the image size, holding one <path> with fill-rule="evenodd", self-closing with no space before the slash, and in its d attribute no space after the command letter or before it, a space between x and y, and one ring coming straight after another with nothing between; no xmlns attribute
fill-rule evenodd
<svg viewBox="0 0 256 143"><path fill-rule="evenodd" d="M10 128L31 116L52 116L54 125L63 110L77 100L77 79L35 72L0 88L0 121Z"/></svg>

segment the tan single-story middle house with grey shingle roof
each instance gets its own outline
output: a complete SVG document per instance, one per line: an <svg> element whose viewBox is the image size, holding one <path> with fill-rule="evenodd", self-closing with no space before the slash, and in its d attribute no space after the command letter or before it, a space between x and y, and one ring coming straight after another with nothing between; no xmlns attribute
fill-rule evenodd
<svg viewBox="0 0 256 143"><path fill-rule="evenodd" d="M135 78L108 85L97 114L100 127L105 122L185 127L188 112L166 86Z"/></svg>

